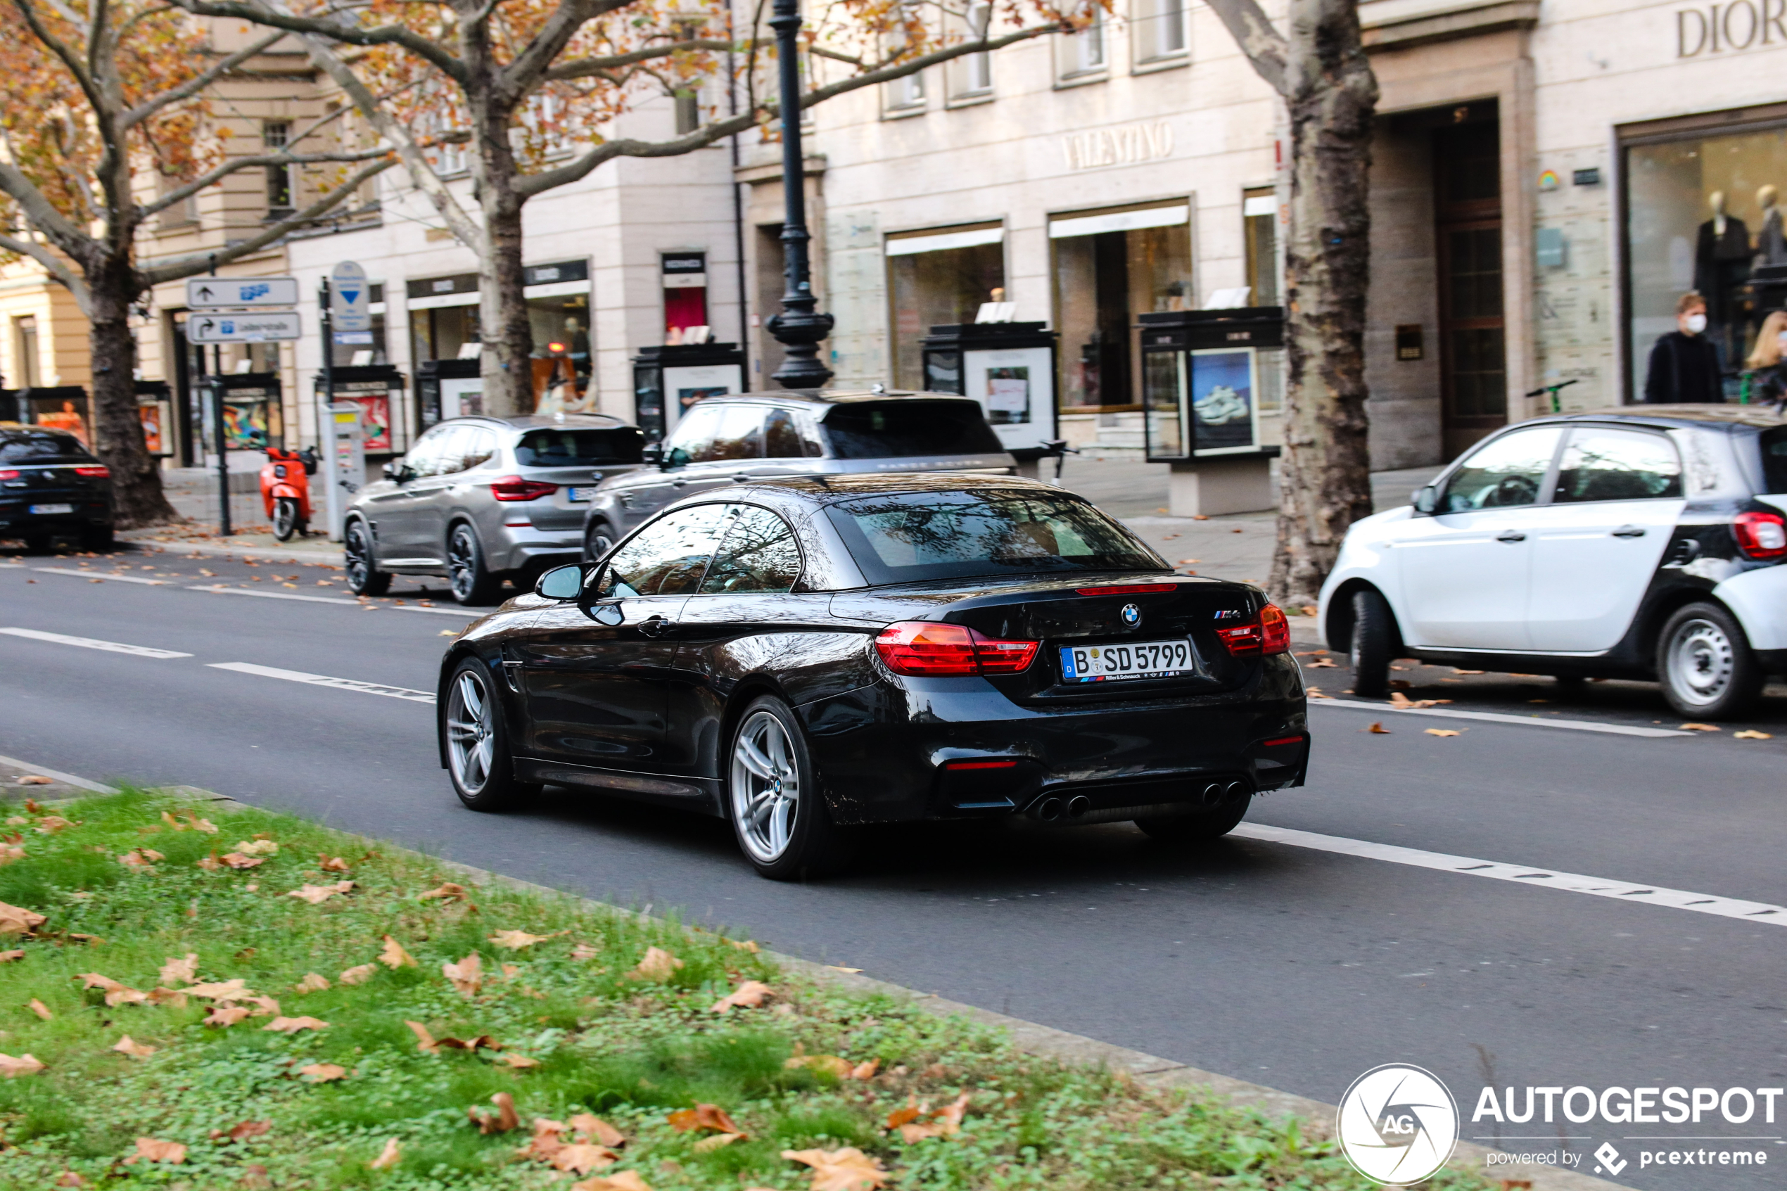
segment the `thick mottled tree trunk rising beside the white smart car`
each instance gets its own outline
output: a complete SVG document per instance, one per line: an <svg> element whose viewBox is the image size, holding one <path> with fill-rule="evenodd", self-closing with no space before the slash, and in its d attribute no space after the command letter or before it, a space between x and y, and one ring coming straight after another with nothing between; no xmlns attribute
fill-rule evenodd
<svg viewBox="0 0 1787 1191"><path fill-rule="evenodd" d="M1272 598L1315 604L1353 521L1371 516L1365 293L1378 80L1349 0L1292 0L1287 54L1285 450Z"/></svg>

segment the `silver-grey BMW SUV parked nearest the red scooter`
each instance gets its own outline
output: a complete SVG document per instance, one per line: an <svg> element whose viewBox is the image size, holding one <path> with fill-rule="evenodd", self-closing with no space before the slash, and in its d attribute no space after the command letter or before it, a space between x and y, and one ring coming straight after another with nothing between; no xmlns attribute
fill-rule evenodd
<svg viewBox="0 0 1787 1191"><path fill-rule="evenodd" d="M640 466L640 429L606 414L452 418L384 464L347 507L348 586L384 595L391 575L445 575L459 604L495 604L583 546L595 486Z"/></svg>

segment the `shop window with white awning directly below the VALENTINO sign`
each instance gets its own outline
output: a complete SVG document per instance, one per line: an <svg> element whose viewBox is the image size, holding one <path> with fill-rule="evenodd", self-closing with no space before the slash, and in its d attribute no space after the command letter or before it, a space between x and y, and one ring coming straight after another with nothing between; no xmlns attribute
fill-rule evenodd
<svg viewBox="0 0 1787 1191"><path fill-rule="evenodd" d="M1138 314L1197 309L1190 205L1049 221L1061 409L1137 409Z"/></svg>

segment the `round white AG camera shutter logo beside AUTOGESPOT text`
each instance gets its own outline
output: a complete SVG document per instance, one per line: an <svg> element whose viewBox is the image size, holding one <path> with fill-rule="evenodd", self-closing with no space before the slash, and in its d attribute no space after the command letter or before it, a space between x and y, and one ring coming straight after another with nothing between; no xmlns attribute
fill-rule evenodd
<svg viewBox="0 0 1787 1191"><path fill-rule="evenodd" d="M1437 1075L1387 1062L1353 1080L1335 1123L1340 1152L1376 1184L1433 1177L1458 1145L1458 1102Z"/></svg>

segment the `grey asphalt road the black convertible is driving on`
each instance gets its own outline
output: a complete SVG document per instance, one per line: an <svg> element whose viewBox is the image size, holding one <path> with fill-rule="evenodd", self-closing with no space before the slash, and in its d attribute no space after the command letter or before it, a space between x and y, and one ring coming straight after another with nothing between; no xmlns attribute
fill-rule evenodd
<svg viewBox="0 0 1787 1191"><path fill-rule="evenodd" d="M195 589L213 584L286 598ZM441 634L470 618L422 609L413 584L397 595L363 611L320 566L0 552L0 755L214 789L1330 1104L1372 1066L1421 1064L1458 1098L1465 1137L1576 1155L1610 1141L1633 1187L1787 1182L1787 1098L1773 1123L1760 1107L1746 1123L1471 1121L1485 1082L1787 1086L1787 911L1703 912L1787 902L1787 700L1758 718L1774 739L1648 737L1617 729L1678 720L1642 684L1573 700L1549 680L1412 670L1410 693L1455 700L1442 709L1530 723L1317 705L1310 784L1258 800L1242 832L1328 839L1174 852L1129 825L902 829L852 875L790 886L758 879L722 823L681 812L568 791L525 814L461 809L432 707L400 695L432 691ZM1338 693L1331 675L1346 671L1310 671ZM1567 875L1605 887L1569 891ZM1640 1170L1644 1146L1751 1148L1767 1166Z"/></svg>

